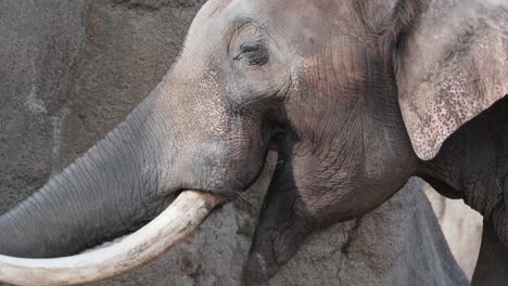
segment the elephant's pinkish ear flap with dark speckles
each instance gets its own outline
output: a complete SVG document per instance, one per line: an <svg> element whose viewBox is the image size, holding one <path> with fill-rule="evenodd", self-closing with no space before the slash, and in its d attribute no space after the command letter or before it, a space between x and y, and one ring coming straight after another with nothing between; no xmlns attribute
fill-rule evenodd
<svg viewBox="0 0 508 286"><path fill-rule="evenodd" d="M431 1L418 14L399 36L393 58L403 118L424 160L508 94L508 5L499 0L443 2Z"/></svg>

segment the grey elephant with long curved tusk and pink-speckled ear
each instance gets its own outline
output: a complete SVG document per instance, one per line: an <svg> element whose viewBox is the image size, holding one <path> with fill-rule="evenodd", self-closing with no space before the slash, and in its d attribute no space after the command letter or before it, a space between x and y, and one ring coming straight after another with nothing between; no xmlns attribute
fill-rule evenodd
<svg viewBox="0 0 508 286"><path fill-rule="evenodd" d="M0 281L82 284L143 264L255 184L277 151L246 285L414 176L483 216L471 283L498 285L507 79L499 0L209 0L127 119L0 217Z"/></svg>

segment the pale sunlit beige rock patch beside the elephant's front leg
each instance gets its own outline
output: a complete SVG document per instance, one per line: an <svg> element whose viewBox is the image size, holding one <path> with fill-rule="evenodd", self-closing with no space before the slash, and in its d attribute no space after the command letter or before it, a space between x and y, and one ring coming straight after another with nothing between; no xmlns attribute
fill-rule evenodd
<svg viewBox="0 0 508 286"><path fill-rule="evenodd" d="M429 184L423 190L434 209L449 249L468 278L472 277L482 243L483 217L461 199L448 199Z"/></svg>

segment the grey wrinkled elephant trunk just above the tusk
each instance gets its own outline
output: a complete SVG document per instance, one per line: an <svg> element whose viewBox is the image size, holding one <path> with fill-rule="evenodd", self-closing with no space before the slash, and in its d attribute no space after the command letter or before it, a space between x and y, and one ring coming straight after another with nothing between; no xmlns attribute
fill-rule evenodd
<svg viewBox="0 0 508 286"><path fill-rule="evenodd" d="M73 255L135 231L163 209L164 199L157 193L168 187L163 178L169 169L173 142L169 120L153 112L155 95L41 190L0 217L0 255Z"/></svg>

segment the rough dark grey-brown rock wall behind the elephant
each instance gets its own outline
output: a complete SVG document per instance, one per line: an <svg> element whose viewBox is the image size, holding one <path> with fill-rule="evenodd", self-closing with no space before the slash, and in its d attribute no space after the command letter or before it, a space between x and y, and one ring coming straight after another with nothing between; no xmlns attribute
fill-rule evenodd
<svg viewBox="0 0 508 286"><path fill-rule="evenodd" d="M203 2L0 1L0 213L148 94ZM239 285L268 179L175 251L97 285ZM420 183L411 184L372 213L309 237L269 285L466 285Z"/></svg>

